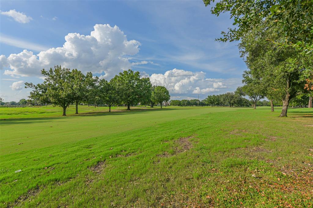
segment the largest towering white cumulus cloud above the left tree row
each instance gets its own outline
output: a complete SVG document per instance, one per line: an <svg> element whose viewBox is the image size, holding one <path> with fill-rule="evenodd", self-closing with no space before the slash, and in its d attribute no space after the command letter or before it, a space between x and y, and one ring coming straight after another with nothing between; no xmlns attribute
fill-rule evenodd
<svg viewBox="0 0 313 208"><path fill-rule="evenodd" d="M115 74L131 68L129 58L139 52L140 42L127 40L119 27L96 24L90 35L69 33L63 47L50 48L34 55L23 50L11 54L7 59L1 56L1 65L9 65L4 73L11 76L40 77L40 69L54 65L77 68L82 72L105 73L102 78L110 79ZM140 62L145 64L145 62Z"/></svg>

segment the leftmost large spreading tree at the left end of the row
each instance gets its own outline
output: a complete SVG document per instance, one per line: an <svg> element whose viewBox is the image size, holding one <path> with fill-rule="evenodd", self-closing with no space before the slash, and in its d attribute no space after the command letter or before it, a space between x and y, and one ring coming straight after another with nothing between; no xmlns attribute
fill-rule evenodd
<svg viewBox="0 0 313 208"><path fill-rule="evenodd" d="M33 89L29 97L62 107L63 116L66 116L66 108L74 101L74 82L70 69L55 66L49 71L41 70L41 74L45 77L44 83L25 83L25 88Z"/></svg>

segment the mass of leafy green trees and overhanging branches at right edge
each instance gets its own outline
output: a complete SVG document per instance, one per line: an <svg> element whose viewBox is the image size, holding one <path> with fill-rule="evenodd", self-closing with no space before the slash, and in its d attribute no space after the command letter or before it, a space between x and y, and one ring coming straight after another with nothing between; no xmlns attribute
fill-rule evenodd
<svg viewBox="0 0 313 208"><path fill-rule="evenodd" d="M208 6L214 0L203 2ZM283 117L290 102L306 94L312 107L312 0L220 0L211 12L217 16L227 12L234 20L235 28L228 28L217 40L240 40L241 57L248 67L242 92L254 105L260 97L281 100Z"/></svg>

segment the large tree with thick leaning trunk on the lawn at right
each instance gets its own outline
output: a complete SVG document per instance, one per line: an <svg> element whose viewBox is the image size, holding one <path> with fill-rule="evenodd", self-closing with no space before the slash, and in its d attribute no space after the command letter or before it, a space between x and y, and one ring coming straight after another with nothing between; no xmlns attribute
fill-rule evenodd
<svg viewBox="0 0 313 208"><path fill-rule="evenodd" d="M260 24L244 35L239 49L249 68L249 74L262 80L264 95L272 102L274 98L283 101L280 114L283 117L287 116L290 99L304 91L301 77L310 70L312 54L305 54L293 47L278 47L266 41L273 39L283 42L284 38L279 35L278 30L277 27Z"/></svg>

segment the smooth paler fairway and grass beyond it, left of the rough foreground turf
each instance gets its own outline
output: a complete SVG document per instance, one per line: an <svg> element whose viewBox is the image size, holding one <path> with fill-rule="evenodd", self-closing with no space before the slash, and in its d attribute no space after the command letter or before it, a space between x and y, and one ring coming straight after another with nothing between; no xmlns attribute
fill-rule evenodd
<svg viewBox="0 0 313 208"><path fill-rule="evenodd" d="M3 114L8 108L0 109ZM69 109L74 109L71 106ZM18 118L10 118L1 121L1 153L13 153L24 150L42 148L51 145L58 145L71 141L82 139L107 136L114 133L129 131L142 127L152 126L156 123L172 121L190 116L197 116L208 112L233 111L236 108L194 108L194 107L167 107L162 111L155 111L158 108L136 108L135 111L127 112L125 107L119 107L117 112L108 111L107 107L93 108L88 106L80 106L80 111L95 110L83 114L83 116L60 116L62 109L60 107L42 107L42 108L11 108L9 116L19 116ZM121 111L121 109L124 109ZM175 109L175 110L174 110ZM32 114L23 114L23 112L36 112L34 118L30 118ZM49 116L51 111L58 113L58 117ZM164 112L166 111L166 112ZM71 114L72 113L72 114ZM41 117L38 117L41 116ZM74 115L74 111L68 113ZM1 118L6 118L3 115ZM26 116L26 117L25 117ZM18 145L23 143L23 145Z"/></svg>

